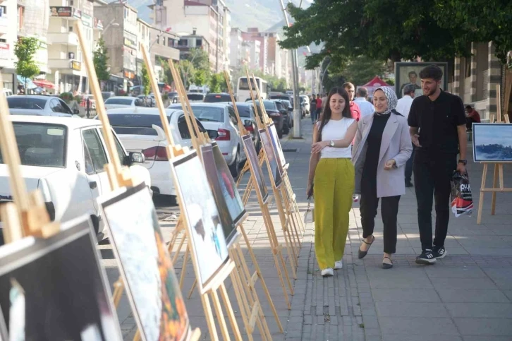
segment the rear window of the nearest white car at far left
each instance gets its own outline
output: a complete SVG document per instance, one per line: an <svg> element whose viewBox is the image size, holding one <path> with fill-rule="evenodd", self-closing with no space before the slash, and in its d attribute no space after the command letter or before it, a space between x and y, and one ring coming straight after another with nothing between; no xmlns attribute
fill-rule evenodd
<svg viewBox="0 0 512 341"><path fill-rule="evenodd" d="M66 127L13 122L20 161L24 166L64 167ZM0 163L4 163L0 153Z"/></svg>

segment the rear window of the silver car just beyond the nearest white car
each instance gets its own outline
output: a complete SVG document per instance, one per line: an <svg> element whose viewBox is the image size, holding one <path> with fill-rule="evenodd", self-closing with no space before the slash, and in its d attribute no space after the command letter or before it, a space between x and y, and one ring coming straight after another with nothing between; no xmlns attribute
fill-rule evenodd
<svg viewBox="0 0 512 341"><path fill-rule="evenodd" d="M152 125L164 128L159 115L141 114L109 114L109 121L119 135L150 135L158 136ZM168 116L170 121L171 116Z"/></svg>

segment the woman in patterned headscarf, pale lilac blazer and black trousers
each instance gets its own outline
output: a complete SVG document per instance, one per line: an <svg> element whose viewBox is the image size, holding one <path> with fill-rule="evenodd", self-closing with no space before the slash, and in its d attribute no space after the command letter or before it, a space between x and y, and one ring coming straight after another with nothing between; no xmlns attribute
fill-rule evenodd
<svg viewBox="0 0 512 341"><path fill-rule="evenodd" d="M380 198L384 222L384 269L393 267L391 255L396 252L398 202L406 193L403 177L406 162L413 151L407 119L395 110L397 101L391 88L375 90L375 113L359 121L352 155L355 193L361 195L363 239L358 257L365 257L375 240L374 220Z"/></svg>

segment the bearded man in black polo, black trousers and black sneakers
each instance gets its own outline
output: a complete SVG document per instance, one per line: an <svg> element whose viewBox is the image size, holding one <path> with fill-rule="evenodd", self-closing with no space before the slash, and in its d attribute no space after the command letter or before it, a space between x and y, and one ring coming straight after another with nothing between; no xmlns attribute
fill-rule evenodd
<svg viewBox="0 0 512 341"><path fill-rule="evenodd" d="M420 72L423 96L414 99L408 116L415 145L414 187L422 246L422 253L416 258L418 264L432 264L446 256L444 239L450 218L450 181L455 170L465 173L467 162L464 104L460 97L439 88L442 76L438 66L423 68ZM433 244L432 196L436 205Z"/></svg>

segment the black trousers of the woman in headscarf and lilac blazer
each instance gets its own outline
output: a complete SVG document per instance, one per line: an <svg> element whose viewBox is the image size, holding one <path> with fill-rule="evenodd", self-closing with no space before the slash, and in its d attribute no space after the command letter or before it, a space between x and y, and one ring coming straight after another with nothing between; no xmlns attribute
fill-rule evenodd
<svg viewBox="0 0 512 341"><path fill-rule="evenodd" d="M379 207L379 198L377 198L377 185L370 184L370 181L362 179L361 201L359 210L361 213L362 237L366 238L373 234L375 227L375 217ZM365 184L367 184L365 186ZM382 198L382 207L380 209L382 222L384 222L384 252L396 252L396 216L398 215L398 202L400 196L386 196Z"/></svg>

